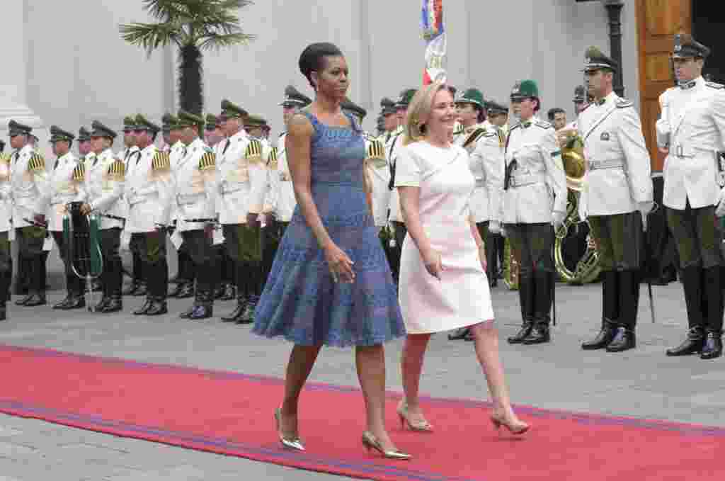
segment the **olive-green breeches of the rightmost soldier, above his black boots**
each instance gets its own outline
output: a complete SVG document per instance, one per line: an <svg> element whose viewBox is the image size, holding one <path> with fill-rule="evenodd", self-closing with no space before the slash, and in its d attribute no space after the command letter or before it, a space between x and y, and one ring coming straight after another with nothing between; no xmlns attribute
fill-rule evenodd
<svg viewBox="0 0 725 481"><path fill-rule="evenodd" d="M716 226L715 206L684 210L667 207L667 224L677 244L680 267L711 268L723 265L722 232Z"/></svg>

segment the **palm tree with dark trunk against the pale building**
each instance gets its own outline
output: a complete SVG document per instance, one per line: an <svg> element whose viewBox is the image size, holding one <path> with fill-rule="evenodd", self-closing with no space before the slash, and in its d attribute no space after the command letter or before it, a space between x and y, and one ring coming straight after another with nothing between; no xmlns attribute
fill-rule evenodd
<svg viewBox="0 0 725 481"><path fill-rule="evenodd" d="M121 37L131 45L155 49L175 44L179 49L179 106L202 114L202 52L247 44L255 36L244 33L237 10L251 0L143 0L155 23L120 25Z"/></svg>

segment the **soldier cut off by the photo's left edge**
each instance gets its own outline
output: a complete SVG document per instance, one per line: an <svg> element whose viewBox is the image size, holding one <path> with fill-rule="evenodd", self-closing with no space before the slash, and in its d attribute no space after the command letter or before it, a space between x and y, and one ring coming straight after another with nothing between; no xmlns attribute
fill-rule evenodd
<svg viewBox="0 0 725 481"><path fill-rule="evenodd" d="M12 284L12 186L10 185L11 157L0 140L0 321L7 318L7 301Z"/></svg>

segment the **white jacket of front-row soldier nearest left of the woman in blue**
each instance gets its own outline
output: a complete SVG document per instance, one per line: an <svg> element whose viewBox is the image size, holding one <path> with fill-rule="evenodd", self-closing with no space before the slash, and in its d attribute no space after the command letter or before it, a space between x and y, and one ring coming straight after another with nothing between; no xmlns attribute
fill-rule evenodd
<svg viewBox="0 0 725 481"><path fill-rule="evenodd" d="M227 139L217 159L219 221L247 223L247 213L262 213L267 172L262 164L262 144L239 131Z"/></svg>

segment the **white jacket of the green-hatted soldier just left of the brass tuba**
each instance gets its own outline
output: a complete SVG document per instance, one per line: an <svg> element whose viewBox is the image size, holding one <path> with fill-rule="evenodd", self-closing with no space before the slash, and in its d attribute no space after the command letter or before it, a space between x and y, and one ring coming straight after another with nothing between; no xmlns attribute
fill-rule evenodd
<svg viewBox="0 0 725 481"><path fill-rule="evenodd" d="M559 156L550 123L534 117L510 129L505 151L510 183L503 194L502 222L544 223L552 221L552 211L566 213L566 174Z"/></svg>

